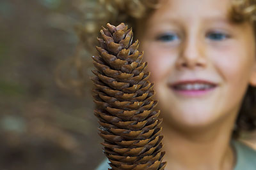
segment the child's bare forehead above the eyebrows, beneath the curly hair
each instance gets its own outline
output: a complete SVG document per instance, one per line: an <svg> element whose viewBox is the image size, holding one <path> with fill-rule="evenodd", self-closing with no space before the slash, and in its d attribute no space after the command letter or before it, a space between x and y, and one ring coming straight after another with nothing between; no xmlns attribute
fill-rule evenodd
<svg viewBox="0 0 256 170"><path fill-rule="evenodd" d="M161 0L155 11L157 20L184 18L193 20L228 20L231 0ZM159 17L161 15L161 17Z"/></svg>

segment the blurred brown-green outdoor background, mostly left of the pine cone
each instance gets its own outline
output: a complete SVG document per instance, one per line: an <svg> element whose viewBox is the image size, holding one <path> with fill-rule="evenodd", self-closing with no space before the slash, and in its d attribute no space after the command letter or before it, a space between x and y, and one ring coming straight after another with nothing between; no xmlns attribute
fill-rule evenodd
<svg viewBox="0 0 256 170"><path fill-rule="evenodd" d="M1 170L94 169L104 159L93 115L91 55L79 52L84 81L73 83L86 85L83 92L56 85L60 64L77 64L72 60L76 32L90 29L93 5L88 0L0 0ZM74 78L79 74L67 72ZM255 136L242 135L253 147Z"/></svg>

